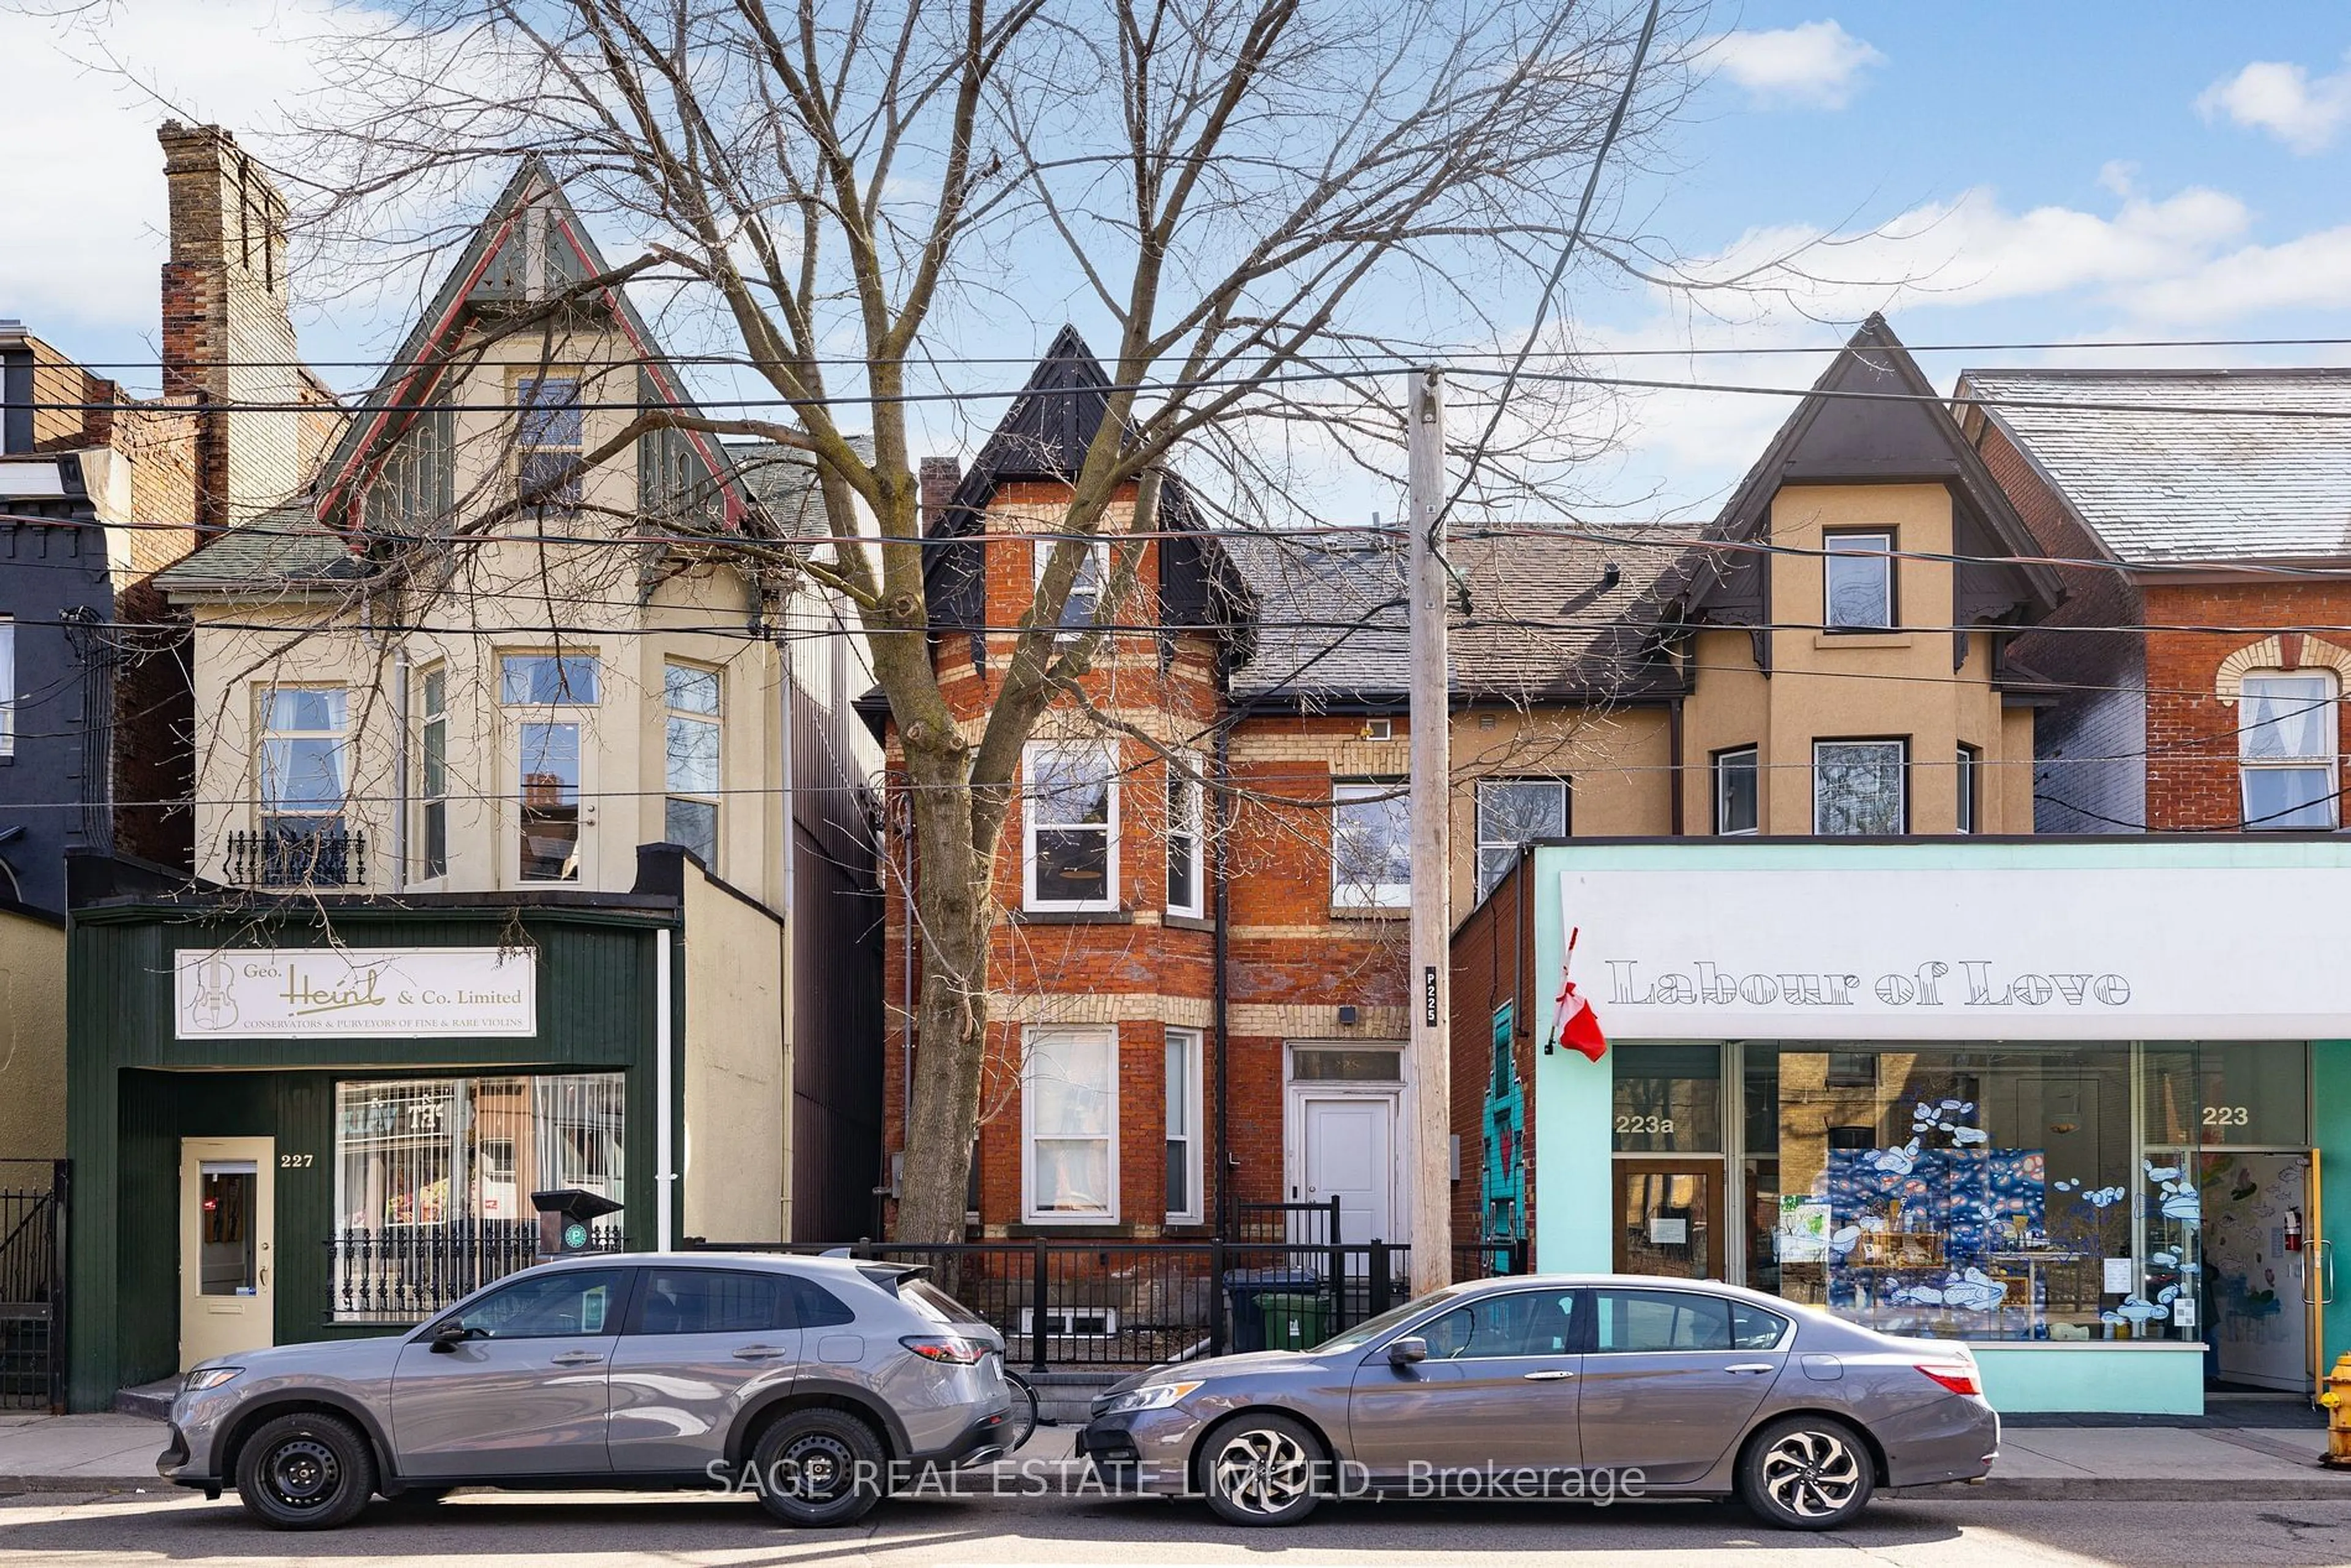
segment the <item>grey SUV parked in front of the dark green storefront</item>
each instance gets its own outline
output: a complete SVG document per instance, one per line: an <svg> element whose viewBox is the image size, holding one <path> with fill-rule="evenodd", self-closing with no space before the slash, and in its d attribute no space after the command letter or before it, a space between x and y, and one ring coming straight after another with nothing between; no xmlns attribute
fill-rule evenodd
<svg viewBox="0 0 2351 1568"><path fill-rule="evenodd" d="M414 1333L202 1361L155 1469L289 1530L456 1486L743 1488L837 1526L917 1469L997 1458L1009 1408L1002 1335L919 1269L607 1253Z"/></svg>

